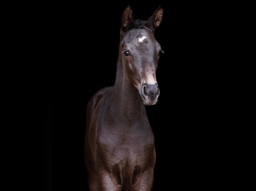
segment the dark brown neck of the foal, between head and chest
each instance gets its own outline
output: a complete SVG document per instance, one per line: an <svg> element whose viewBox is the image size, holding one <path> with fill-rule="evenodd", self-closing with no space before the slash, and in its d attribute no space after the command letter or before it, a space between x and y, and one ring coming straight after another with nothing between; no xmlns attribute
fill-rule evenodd
<svg viewBox="0 0 256 191"><path fill-rule="evenodd" d="M144 109L145 106L142 103L138 90L124 74L121 50L119 50L116 80L110 101L110 110L122 119L137 120L138 117L145 114L143 112Z"/></svg>

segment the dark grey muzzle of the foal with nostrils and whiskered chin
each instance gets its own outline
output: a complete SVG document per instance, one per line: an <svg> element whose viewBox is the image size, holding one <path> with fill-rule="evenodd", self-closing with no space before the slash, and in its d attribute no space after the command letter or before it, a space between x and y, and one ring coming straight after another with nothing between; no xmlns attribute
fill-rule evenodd
<svg viewBox="0 0 256 191"><path fill-rule="evenodd" d="M158 84L143 83L140 90L140 96L145 105L154 105L157 102L157 98L160 95Z"/></svg>

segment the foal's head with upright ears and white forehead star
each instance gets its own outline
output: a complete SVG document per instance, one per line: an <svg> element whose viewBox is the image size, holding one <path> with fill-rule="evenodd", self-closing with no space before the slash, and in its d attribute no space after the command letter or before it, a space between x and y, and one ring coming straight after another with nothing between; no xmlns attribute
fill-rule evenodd
<svg viewBox="0 0 256 191"><path fill-rule="evenodd" d="M153 105L160 94L156 81L158 59L163 51L154 37L162 21L163 9L159 6L147 21L134 20L130 6L122 14L120 52L124 75L138 90L145 105Z"/></svg>

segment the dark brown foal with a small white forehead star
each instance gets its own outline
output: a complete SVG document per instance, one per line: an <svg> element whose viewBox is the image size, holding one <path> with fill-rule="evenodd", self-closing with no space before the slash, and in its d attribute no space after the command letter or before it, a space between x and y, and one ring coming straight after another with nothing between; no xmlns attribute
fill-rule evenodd
<svg viewBox="0 0 256 191"><path fill-rule="evenodd" d="M156 104L158 59L154 37L163 9L134 19L128 5L121 15L115 83L87 104L85 163L91 191L152 190L155 138L145 105Z"/></svg>

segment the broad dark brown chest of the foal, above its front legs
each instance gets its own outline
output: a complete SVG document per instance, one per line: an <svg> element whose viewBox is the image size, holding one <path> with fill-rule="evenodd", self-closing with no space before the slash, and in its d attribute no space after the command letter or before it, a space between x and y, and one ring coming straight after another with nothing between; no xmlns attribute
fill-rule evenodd
<svg viewBox="0 0 256 191"><path fill-rule="evenodd" d="M149 126L115 131L107 128L98 133L97 146L109 164L143 165L154 150L154 136Z"/></svg>

